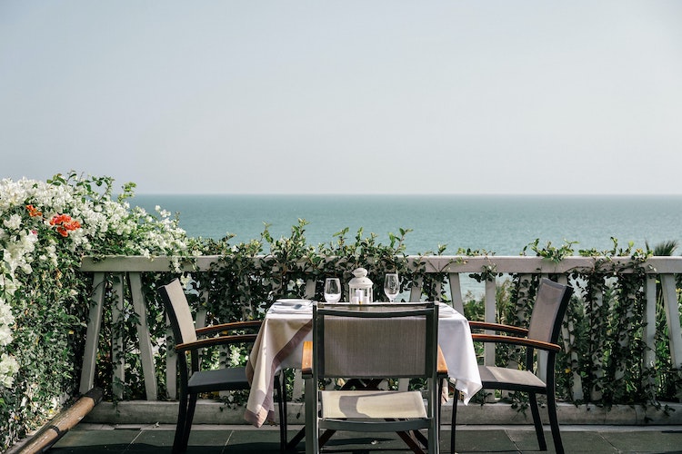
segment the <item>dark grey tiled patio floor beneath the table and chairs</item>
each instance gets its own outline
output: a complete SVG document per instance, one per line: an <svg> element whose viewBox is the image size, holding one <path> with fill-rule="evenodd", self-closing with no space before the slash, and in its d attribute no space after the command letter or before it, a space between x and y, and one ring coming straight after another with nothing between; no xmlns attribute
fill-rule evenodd
<svg viewBox="0 0 682 454"><path fill-rule="evenodd" d="M296 429L292 427L293 437ZM79 424L68 431L47 452L62 453L129 453L169 452L175 427L172 425L103 425ZM548 430L548 427L546 428ZM561 427L567 452L637 452L682 453L680 426L569 426ZM553 452L551 433L546 431L549 452ZM441 452L450 452L450 431L441 431ZM279 432L276 426L260 429L247 425L196 425L189 440L188 453L276 453ZM10 452L20 452L20 446ZM392 434L337 433L326 445L329 452L402 453L411 452L403 441ZM457 429L456 449L474 452L538 452L535 432L527 426L461 426ZM305 452L305 443L297 447ZM296 452L296 451L295 451Z"/></svg>

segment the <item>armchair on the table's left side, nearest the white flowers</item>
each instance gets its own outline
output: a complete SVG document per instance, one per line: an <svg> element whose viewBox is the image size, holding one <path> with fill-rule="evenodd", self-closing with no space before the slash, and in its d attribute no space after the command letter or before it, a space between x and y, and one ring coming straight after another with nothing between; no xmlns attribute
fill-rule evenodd
<svg viewBox="0 0 682 454"><path fill-rule="evenodd" d="M177 414L173 452L185 452L192 429L196 400L200 393L250 389L244 367L201 370L199 350L215 345L253 343L256 341L261 321L235 321L196 330L180 281L176 279L159 287L158 291L165 303L165 310L173 329L180 370L180 407ZM190 355L189 366L191 367L187 364L187 353ZM284 380L280 380L279 376L276 376L275 389L279 400L280 450L284 451L286 449L286 395Z"/></svg>

